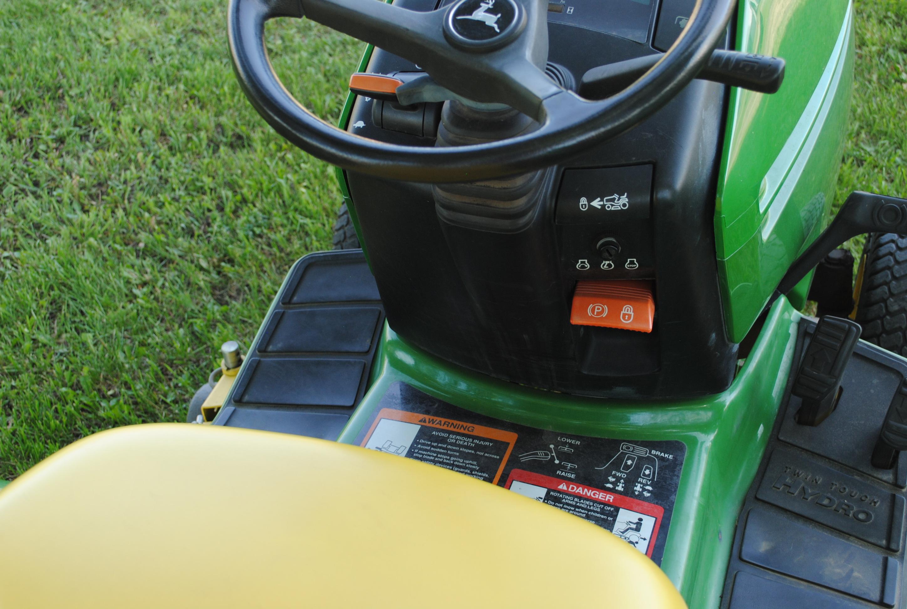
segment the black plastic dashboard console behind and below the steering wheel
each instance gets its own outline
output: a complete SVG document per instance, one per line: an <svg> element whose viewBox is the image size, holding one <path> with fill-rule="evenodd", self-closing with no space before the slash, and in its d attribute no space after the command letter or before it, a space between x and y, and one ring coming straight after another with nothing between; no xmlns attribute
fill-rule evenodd
<svg viewBox="0 0 907 609"><path fill-rule="evenodd" d="M397 0L426 11L435 1ZM657 54L693 5L552 0L549 74L578 82L601 64ZM420 68L376 49L367 69ZM693 81L628 133L532 175L442 188L348 172L391 328L453 364L536 388L631 399L727 388L736 345L713 228L726 93ZM356 98L350 132L444 145L448 135L387 128L395 119L375 103ZM445 105L443 132L455 114ZM653 331L571 325L581 280L654 280Z"/></svg>

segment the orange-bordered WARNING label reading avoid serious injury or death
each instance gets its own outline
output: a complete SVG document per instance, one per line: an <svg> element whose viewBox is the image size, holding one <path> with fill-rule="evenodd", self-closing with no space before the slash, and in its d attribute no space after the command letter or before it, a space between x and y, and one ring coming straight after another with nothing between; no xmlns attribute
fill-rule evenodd
<svg viewBox="0 0 907 609"><path fill-rule="evenodd" d="M360 446L497 484L516 438L512 431L382 408Z"/></svg>

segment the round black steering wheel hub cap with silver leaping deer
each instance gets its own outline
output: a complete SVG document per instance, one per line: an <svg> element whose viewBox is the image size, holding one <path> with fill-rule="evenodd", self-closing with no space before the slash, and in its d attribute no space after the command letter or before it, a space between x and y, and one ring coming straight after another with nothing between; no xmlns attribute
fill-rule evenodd
<svg viewBox="0 0 907 609"><path fill-rule="evenodd" d="M491 51L522 32L526 18L514 0L460 0L447 11L444 34L464 51Z"/></svg>

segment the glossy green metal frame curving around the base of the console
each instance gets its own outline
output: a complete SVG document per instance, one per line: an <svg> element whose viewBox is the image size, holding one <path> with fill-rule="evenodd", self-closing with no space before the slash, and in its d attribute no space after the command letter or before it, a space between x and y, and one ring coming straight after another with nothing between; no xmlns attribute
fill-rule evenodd
<svg viewBox="0 0 907 609"><path fill-rule="evenodd" d="M564 433L687 445L662 569L691 607L717 607L736 517L784 397L800 314L775 302L750 357L722 394L674 403L579 398L485 377L407 345L385 328L373 383L339 437L352 443L391 384L404 381L489 417Z"/></svg>

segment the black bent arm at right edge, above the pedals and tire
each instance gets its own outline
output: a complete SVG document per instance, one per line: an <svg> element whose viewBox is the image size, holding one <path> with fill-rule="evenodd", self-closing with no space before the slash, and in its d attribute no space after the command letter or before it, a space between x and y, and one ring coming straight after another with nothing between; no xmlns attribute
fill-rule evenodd
<svg viewBox="0 0 907 609"><path fill-rule="evenodd" d="M844 201L838 215L834 217L834 221L787 270L769 304L774 302L778 295L793 290L806 273L813 270L831 250L851 237L866 232L907 234L907 199L886 197L872 192L852 192L847 201Z"/></svg>

